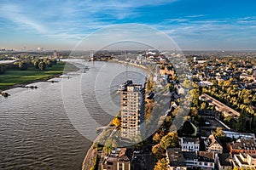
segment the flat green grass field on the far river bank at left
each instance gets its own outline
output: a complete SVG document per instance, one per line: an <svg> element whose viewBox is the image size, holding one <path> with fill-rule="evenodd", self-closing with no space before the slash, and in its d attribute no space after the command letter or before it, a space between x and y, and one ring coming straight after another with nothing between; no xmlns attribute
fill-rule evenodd
<svg viewBox="0 0 256 170"><path fill-rule="evenodd" d="M33 67L29 67L26 71L7 70L0 75L0 90L11 88L17 84L26 84L29 82L44 81L51 77L61 75L66 63L59 61L52 67L46 67L45 71L39 71ZM73 65L66 65L65 70L74 69Z"/></svg>

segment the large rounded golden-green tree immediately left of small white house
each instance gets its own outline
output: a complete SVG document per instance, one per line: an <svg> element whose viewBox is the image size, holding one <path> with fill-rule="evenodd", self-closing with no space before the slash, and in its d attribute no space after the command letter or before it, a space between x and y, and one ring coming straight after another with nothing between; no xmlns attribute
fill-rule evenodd
<svg viewBox="0 0 256 170"><path fill-rule="evenodd" d="M178 145L178 137L176 132L168 133L160 140L160 146L165 150L169 147L176 147Z"/></svg>

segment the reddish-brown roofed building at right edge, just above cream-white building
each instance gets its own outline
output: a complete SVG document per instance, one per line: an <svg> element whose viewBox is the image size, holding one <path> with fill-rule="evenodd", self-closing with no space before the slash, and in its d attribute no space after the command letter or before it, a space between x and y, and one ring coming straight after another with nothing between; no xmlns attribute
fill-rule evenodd
<svg viewBox="0 0 256 170"><path fill-rule="evenodd" d="M238 139L235 142L227 144L231 154L247 153L256 154L256 144L254 139Z"/></svg>

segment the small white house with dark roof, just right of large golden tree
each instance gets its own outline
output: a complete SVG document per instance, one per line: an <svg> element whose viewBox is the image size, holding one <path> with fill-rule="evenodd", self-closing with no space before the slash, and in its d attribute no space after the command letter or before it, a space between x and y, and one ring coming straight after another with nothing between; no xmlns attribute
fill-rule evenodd
<svg viewBox="0 0 256 170"><path fill-rule="evenodd" d="M182 151L199 151L200 141L198 138L182 137L179 138Z"/></svg>

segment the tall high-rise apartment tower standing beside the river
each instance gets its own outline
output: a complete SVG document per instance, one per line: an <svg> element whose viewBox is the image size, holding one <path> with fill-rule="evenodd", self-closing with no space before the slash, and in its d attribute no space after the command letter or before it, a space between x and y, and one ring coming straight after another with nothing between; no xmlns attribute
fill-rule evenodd
<svg viewBox="0 0 256 170"><path fill-rule="evenodd" d="M132 138L140 135L145 121L145 88L131 83L121 94L121 137Z"/></svg>

